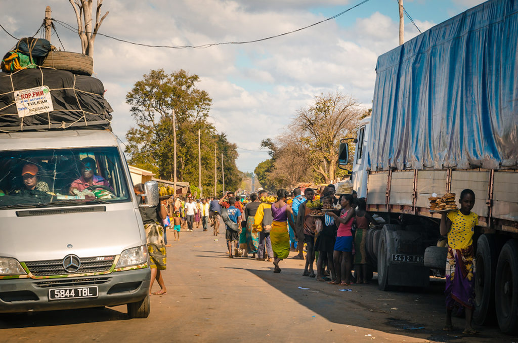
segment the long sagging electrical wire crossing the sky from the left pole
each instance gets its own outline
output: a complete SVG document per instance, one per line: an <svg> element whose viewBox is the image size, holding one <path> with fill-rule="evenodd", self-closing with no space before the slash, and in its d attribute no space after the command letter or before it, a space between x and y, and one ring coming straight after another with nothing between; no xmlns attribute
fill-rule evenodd
<svg viewBox="0 0 518 343"><path fill-rule="evenodd" d="M285 33L282 33L282 34L279 34L279 35L275 35L275 36L270 36L270 37L265 37L265 38L260 38L260 39L254 39L254 40L246 40L246 41L228 41L228 42L222 42L222 43L211 43L211 44L204 44L204 45L197 45L197 46L192 46L192 45L184 45L184 46L166 46L166 45L149 45L149 44L141 44L141 43L137 43L137 42L133 42L133 41L129 41L129 40L125 40L125 39L121 39L121 38L117 38L117 37L112 37L112 36L108 36L108 35L105 35L105 34L102 34L102 33L97 33L97 35L100 35L100 36L104 36L104 37L107 37L107 38L111 38L111 39L115 39L115 40L118 40L118 41L121 41L121 42L125 42L125 43L128 43L128 44L133 44L133 45L139 45L139 46L143 46L143 47L150 47L150 48L170 48L170 49L186 49L186 48L194 48L194 49L206 49L206 48L209 48L209 47L213 47L213 46L218 46L218 45L228 45L228 44L249 44L249 43L255 43L255 42L259 42L259 41L263 41L263 40L268 40L268 39L272 39L272 38L277 38L277 37L281 37L281 36L285 36L285 35L289 35L289 34L292 34L292 33L295 33L295 32L298 32L298 31L302 31L302 30L305 30L306 28L309 28L309 27L312 27L312 26L315 26L315 25L318 25L318 24L321 24L323 22L326 22L328 20L333 20L337 17L340 17L341 15L343 15L344 13L347 13L349 12L350 10L360 6L360 5L363 5L365 4L366 2L368 2L369 0L363 0L362 2L344 10L344 11L341 11L340 13L334 15L333 17L330 17L330 18L327 18L327 19L324 19L324 20L321 20L319 22L316 22L316 23L313 23L311 25L307 25L307 26L304 26L304 27L300 27L298 28L297 30L293 30L293 31L290 31L290 32L285 32ZM53 21L59 23L60 25L62 25L63 27L66 27L68 30L70 31L73 31L73 32L76 32L76 33L79 33L79 30L77 28L74 28L72 25L70 24L67 24L61 20L57 20L57 19L54 19L52 18ZM4 30L5 31L5 30ZM85 34L91 34L92 32L84 32Z"/></svg>

